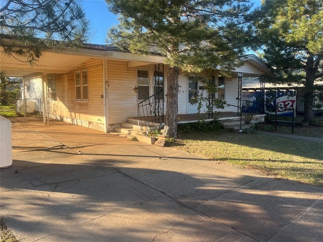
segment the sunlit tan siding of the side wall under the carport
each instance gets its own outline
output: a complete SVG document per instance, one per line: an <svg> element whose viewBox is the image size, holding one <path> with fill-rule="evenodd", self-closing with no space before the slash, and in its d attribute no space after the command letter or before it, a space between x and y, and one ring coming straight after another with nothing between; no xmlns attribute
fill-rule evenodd
<svg viewBox="0 0 323 242"><path fill-rule="evenodd" d="M75 71L78 70L88 72L88 102L76 101ZM57 99L49 100L50 114L68 123L104 130L102 61L91 59L75 71L55 76Z"/></svg>

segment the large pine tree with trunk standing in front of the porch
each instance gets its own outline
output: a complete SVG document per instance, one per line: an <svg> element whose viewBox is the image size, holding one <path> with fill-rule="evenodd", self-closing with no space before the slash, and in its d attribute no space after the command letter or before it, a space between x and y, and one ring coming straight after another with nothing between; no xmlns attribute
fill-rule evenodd
<svg viewBox="0 0 323 242"><path fill-rule="evenodd" d="M232 70L240 65L249 25L248 0L106 0L119 14L108 41L133 53L161 53L169 65L165 136L177 136L180 70ZM228 73L226 73L228 75Z"/></svg>

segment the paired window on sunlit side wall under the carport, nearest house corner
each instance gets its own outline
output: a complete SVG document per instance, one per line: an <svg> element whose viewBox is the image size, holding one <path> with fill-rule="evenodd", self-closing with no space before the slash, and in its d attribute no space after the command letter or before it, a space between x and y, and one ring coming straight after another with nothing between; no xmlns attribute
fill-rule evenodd
<svg viewBox="0 0 323 242"><path fill-rule="evenodd" d="M87 70L75 73L76 101L87 102L89 100Z"/></svg>

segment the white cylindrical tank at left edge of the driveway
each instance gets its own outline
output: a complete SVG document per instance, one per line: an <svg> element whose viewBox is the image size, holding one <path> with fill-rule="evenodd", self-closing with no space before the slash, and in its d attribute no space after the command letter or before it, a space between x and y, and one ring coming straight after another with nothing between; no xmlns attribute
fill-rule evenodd
<svg viewBox="0 0 323 242"><path fill-rule="evenodd" d="M0 116L0 168L12 165L11 122Z"/></svg>

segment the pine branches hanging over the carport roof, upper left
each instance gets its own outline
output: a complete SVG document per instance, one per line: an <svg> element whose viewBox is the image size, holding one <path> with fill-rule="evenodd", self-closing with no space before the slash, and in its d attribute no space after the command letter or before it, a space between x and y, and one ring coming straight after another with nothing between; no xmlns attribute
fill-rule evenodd
<svg viewBox="0 0 323 242"><path fill-rule="evenodd" d="M47 47L78 46L87 38L89 23L77 0L2 2L0 45L19 61L32 64Z"/></svg>

